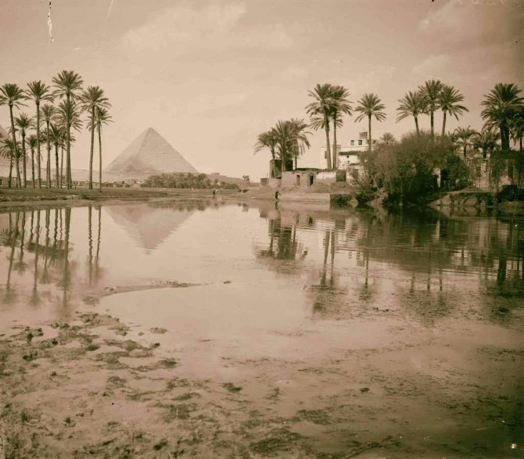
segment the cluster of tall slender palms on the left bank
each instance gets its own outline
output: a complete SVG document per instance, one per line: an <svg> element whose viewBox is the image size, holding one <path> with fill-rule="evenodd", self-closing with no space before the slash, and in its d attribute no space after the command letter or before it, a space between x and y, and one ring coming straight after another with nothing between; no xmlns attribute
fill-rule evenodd
<svg viewBox="0 0 524 459"><path fill-rule="evenodd" d="M108 112L111 104L99 86L87 86L83 89L83 80L74 71L62 70L52 78L51 83L49 86L40 80L31 81L25 89L15 83L0 86L0 105L7 106L10 120L10 138L4 139L0 145L0 154L9 159L8 187L12 187L15 168L15 186L27 188L27 169L30 163L32 188L42 188L42 181L46 188L51 188L54 179L57 188L71 189L71 147L75 141L72 130L79 132L85 122L91 134L89 188L93 189L96 132L99 145L99 188L102 190L102 127L112 122ZM20 113L21 107L28 107L28 102L34 106L34 116ZM82 119L83 116L86 117L85 120ZM44 149L47 155L42 155ZM53 164L51 156L54 158ZM45 165L42 165L42 160ZM52 168L54 177L51 177ZM42 169L45 178L42 178Z"/></svg>

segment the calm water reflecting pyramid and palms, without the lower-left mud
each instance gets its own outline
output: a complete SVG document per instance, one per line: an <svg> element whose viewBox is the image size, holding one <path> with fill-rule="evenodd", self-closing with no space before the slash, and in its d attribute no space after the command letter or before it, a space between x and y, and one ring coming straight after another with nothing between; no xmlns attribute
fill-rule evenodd
<svg viewBox="0 0 524 459"><path fill-rule="evenodd" d="M0 333L77 311L137 340L165 327L159 353L185 377L236 381L257 409L278 389L270 418L318 454L522 455L518 218L219 200L0 212ZM195 286L148 288L173 281Z"/></svg>

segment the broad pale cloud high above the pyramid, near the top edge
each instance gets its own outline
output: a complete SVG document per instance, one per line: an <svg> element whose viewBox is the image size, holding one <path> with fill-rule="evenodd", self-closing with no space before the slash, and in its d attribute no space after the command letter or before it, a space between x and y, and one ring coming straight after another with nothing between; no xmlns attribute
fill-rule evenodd
<svg viewBox="0 0 524 459"><path fill-rule="evenodd" d="M290 50L294 40L281 24L243 27L247 9L243 3L171 7L146 24L129 30L122 38L124 49L189 54L231 49Z"/></svg>

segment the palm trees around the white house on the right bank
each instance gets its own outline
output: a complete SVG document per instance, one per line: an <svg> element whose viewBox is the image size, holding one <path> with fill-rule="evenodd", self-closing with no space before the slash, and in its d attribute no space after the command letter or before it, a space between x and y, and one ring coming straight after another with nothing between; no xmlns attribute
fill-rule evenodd
<svg viewBox="0 0 524 459"><path fill-rule="evenodd" d="M454 148L462 151L464 157L466 150L473 147L482 150L484 157L495 150L509 150L510 138L519 143L522 154L522 137L524 136L524 99L521 97L522 90L513 83L497 83L482 101L483 110L481 117L484 126L480 132L476 132L471 126L459 127L446 134L446 119L453 116L459 120L468 108L462 105L464 95L440 80L428 80L418 86L415 91L407 92L399 99L397 107L398 123L407 117L413 117L414 131L416 136L421 135L419 128L419 116L429 115L431 141L435 139L434 114L442 111L442 127L440 138L449 137ZM269 130L257 137L255 152L262 149L269 150L272 159L281 160L282 171L286 170L286 161L294 158L295 166L297 157L309 148L307 136L313 130L323 129L326 137L326 168L328 170L337 167L336 130L343 126L344 115L352 116L355 122L363 119L368 121L368 151L372 150L372 119L383 122L386 119L386 106L375 93L366 93L353 106L349 100L350 93L344 86L330 83L317 84L313 90L308 92L313 101L305 106L309 115L309 123L303 119L293 118L290 121L278 121ZM333 150L330 146L330 132L333 131ZM395 138L391 133L385 133L380 138L381 144L394 143ZM500 144L499 144L500 142ZM275 161L273 161L275 164ZM276 173L276 171L274 171Z"/></svg>

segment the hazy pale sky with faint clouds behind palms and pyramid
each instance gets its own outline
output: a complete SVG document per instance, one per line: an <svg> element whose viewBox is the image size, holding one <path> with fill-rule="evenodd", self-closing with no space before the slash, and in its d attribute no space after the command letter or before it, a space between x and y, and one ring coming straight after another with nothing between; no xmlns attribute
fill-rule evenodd
<svg viewBox="0 0 524 459"><path fill-rule="evenodd" d="M470 112L446 130L480 129L496 83L524 88L524 0L51 1L52 42L47 0L3 0L0 84L50 84L74 70L84 86L101 86L114 119L104 167L153 127L199 172L258 181L270 155L254 155L257 135L279 119L307 119L316 83L345 86L353 102L378 94L387 119L373 123L374 138L414 128L412 118L395 122L398 99L426 80L465 96ZM367 130L354 118L337 133L342 145ZM438 131L441 122L438 113ZM419 123L429 128L429 117ZM77 137L72 166L87 168L90 135ZM299 167L325 167L324 133L310 142Z"/></svg>

